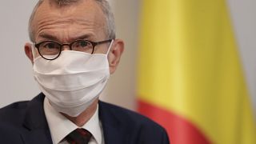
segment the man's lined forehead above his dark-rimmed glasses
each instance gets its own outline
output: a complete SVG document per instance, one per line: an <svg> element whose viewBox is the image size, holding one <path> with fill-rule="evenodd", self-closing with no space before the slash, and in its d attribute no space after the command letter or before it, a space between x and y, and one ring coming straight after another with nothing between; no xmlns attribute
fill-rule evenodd
<svg viewBox="0 0 256 144"><path fill-rule="evenodd" d="M106 27L106 19L94 0L82 0L69 6L59 6L46 0L38 7L32 26L35 36L47 32L58 34L58 31L65 30L96 33Z"/></svg>

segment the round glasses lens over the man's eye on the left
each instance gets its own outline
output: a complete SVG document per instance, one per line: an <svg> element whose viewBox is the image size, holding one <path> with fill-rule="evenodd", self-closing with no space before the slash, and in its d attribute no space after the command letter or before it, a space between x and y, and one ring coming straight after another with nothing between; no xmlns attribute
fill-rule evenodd
<svg viewBox="0 0 256 144"><path fill-rule="evenodd" d="M57 42L42 42L39 46L39 53L43 58L54 59L58 57L61 45Z"/></svg>

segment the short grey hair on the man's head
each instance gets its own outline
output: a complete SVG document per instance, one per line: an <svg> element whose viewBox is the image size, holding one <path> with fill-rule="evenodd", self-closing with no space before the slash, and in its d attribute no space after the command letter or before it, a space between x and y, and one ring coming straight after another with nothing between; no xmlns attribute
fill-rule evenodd
<svg viewBox="0 0 256 144"><path fill-rule="evenodd" d="M42 4L44 0L39 0L36 6L34 6L34 10L32 11L32 14L30 15L30 21L29 21L29 36L30 36L30 41L35 42L34 38L34 26L33 25L33 20L34 20L34 15L36 14L36 11L38 10L38 7ZM80 0L52 0L59 6L68 6L70 3L78 2ZM114 24L114 14L110 8L109 2L106 0L95 0L98 3L98 6L101 7L103 14L105 15L106 18L106 36L107 38L114 39L115 38L115 24Z"/></svg>

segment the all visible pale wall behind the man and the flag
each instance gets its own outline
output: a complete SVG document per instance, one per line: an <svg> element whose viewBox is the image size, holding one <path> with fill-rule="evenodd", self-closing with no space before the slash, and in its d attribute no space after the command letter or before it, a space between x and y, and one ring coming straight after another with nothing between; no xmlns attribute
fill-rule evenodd
<svg viewBox="0 0 256 144"><path fill-rule="evenodd" d="M29 60L23 52L29 42L27 22L37 0L8 0L0 2L0 42L2 44L0 71L0 107L33 98L39 90L32 77ZM111 0L117 23L118 38L126 42L126 50L118 71L110 78L102 99L134 109L136 84L136 52L138 43L138 0ZM246 79L256 110L256 1L228 0L235 32L244 62Z"/></svg>

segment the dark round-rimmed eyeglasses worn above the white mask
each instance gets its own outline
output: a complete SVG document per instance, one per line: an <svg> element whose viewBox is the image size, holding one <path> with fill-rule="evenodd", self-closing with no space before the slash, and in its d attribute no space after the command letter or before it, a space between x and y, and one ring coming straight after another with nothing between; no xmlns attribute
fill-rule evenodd
<svg viewBox="0 0 256 144"><path fill-rule="evenodd" d="M70 50L75 51L82 51L88 54L94 53L94 47L106 43L111 42L112 39L108 39L101 42L90 42L87 40L76 40L71 43L63 43L60 44L58 42L54 41L43 41L39 43L35 43L34 46L38 49L38 53L42 56L42 58L45 58L47 60L54 60L58 58L58 56L62 53L62 47L63 46L69 46Z"/></svg>

